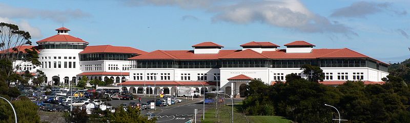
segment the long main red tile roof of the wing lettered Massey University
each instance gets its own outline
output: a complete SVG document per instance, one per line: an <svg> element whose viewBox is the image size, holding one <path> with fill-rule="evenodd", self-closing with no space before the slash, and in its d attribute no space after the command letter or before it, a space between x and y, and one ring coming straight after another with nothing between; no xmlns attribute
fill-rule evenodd
<svg viewBox="0 0 410 123"><path fill-rule="evenodd" d="M263 51L253 50L220 50L217 54L194 54L194 51L162 51L157 50L147 54L129 58L130 60L217 60L217 59L318 59L318 58L370 58L348 48L313 49L312 53L286 53L286 50ZM380 62L373 59L376 62ZM383 63L383 62L380 62ZM388 64L386 64L388 65Z"/></svg>

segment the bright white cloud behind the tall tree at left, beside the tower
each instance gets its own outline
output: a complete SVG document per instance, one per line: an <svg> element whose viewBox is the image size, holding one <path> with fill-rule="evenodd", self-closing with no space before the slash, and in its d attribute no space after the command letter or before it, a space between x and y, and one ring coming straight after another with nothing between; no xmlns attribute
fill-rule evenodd
<svg viewBox="0 0 410 123"><path fill-rule="evenodd" d="M20 20L20 22L15 22L7 17L0 17L0 22L16 24L20 30L27 31L30 33L32 38L42 38L42 32L39 28L33 27L26 20Z"/></svg>

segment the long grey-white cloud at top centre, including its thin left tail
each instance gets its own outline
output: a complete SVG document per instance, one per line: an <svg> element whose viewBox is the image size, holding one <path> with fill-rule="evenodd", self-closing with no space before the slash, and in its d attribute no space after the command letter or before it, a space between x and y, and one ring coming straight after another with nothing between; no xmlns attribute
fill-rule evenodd
<svg viewBox="0 0 410 123"><path fill-rule="evenodd" d="M352 28L335 23L326 17L317 15L298 0L268 1L268 0L142 0L126 1L127 6L177 6L183 9L202 9L215 13L213 22L233 22L248 24L260 22L273 27L290 29L305 33L336 33L342 35L357 35Z"/></svg>

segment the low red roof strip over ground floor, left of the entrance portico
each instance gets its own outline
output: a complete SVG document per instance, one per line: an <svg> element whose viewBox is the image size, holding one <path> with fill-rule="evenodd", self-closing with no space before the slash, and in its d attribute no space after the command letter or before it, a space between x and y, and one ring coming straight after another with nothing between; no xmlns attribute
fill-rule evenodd
<svg viewBox="0 0 410 123"><path fill-rule="evenodd" d="M216 82L204 82L204 81L127 81L123 82L119 85L178 85L178 86L184 86L184 85L216 85Z"/></svg>

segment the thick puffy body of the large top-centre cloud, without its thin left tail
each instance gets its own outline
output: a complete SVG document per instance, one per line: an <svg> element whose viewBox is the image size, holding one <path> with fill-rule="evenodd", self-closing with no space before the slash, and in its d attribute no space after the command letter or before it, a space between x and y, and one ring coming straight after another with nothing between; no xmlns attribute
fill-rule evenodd
<svg viewBox="0 0 410 123"><path fill-rule="evenodd" d="M344 24L332 22L326 17L312 13L297 0L241 2L231 6L216 7L212 11L217 13L213 21L240 24L261 22L305 33L357 35L352 28Z"/></svg>

